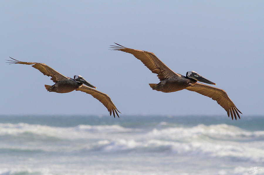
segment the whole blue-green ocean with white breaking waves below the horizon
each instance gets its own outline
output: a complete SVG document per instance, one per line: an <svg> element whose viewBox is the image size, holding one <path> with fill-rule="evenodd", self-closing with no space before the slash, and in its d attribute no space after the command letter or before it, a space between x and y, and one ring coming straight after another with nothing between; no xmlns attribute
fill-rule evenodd
<svg viewBox="0 0 264 175"><path fill-rule="evenodd" d="M0 175L264 174L264 116L0 116Z"/></svg>

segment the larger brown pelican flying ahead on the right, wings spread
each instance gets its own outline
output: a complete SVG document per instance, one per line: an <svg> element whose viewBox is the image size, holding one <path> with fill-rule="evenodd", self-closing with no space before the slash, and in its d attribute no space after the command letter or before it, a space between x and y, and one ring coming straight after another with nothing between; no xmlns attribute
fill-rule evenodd
<svg viewBox="0 0 264 175"><path fill-rule="evenodd" d="M233 116L236 119L236 115L240 119L238 113L240 111L228 97L226 92L222 89L218 89L206 84L197 83L197 81L199 81L207 84L216 85L215 83L199 75L197 72L188 71L186 73L186 76L183 76L181 74L173 72L152 52L127 48L119 44L117 44L117 46L111 46L111 50L118 50L131 53L137 59L141 60L141 62L144 63L144 65L147 66L148 69L151 70L151 72L158 74L157 76L160 79L160 82L158 84L149 84L153 90L162 92L175 92L180 91L182 89L187 89L189 91L194 91L217 101L217 103L226 110L228 117L229 114L231 114L232 120Z"/></svg>

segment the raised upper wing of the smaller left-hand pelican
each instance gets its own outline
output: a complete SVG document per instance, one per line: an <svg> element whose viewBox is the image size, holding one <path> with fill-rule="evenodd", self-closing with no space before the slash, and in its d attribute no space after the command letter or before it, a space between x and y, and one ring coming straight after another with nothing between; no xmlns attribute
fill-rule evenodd
<svg viewBox="0 0 264 175"><path fill-rule="evenodd" d="M9 57L11 58L11 57ZM44 75L47 75L49 77L51 77L51 80L53 82L59 82L62 81L63 79L69 79L68 77L65 77L64 75L60 74L59 72L57 72L56 70L54 70L53 68L49 67L48 65L44 64L44 63L34 63L34 62L22 62L22 61L18 61L15 60L13 58L11 58L12 60L7 60L10 62L10 64L27 64L27 65L32 65L32 67L38 69L40 72L42 72Z"/></svg>

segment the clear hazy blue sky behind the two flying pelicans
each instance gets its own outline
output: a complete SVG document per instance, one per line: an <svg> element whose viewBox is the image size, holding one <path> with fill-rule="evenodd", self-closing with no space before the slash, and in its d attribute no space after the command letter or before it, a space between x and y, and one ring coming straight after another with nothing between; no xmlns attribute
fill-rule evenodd
<svg viewBox="0 0 264 175"><path fill-rule="evenodd" d="M243 115L263 115L264 1L1 1L0 114L109 115L92 96L47 92L50 77L9 56L82 75L120 115L226 115L211 98L153 91L156 74L114 42L155 53L224 89ZM242 115L242 117L243 117Z"/></svg>

